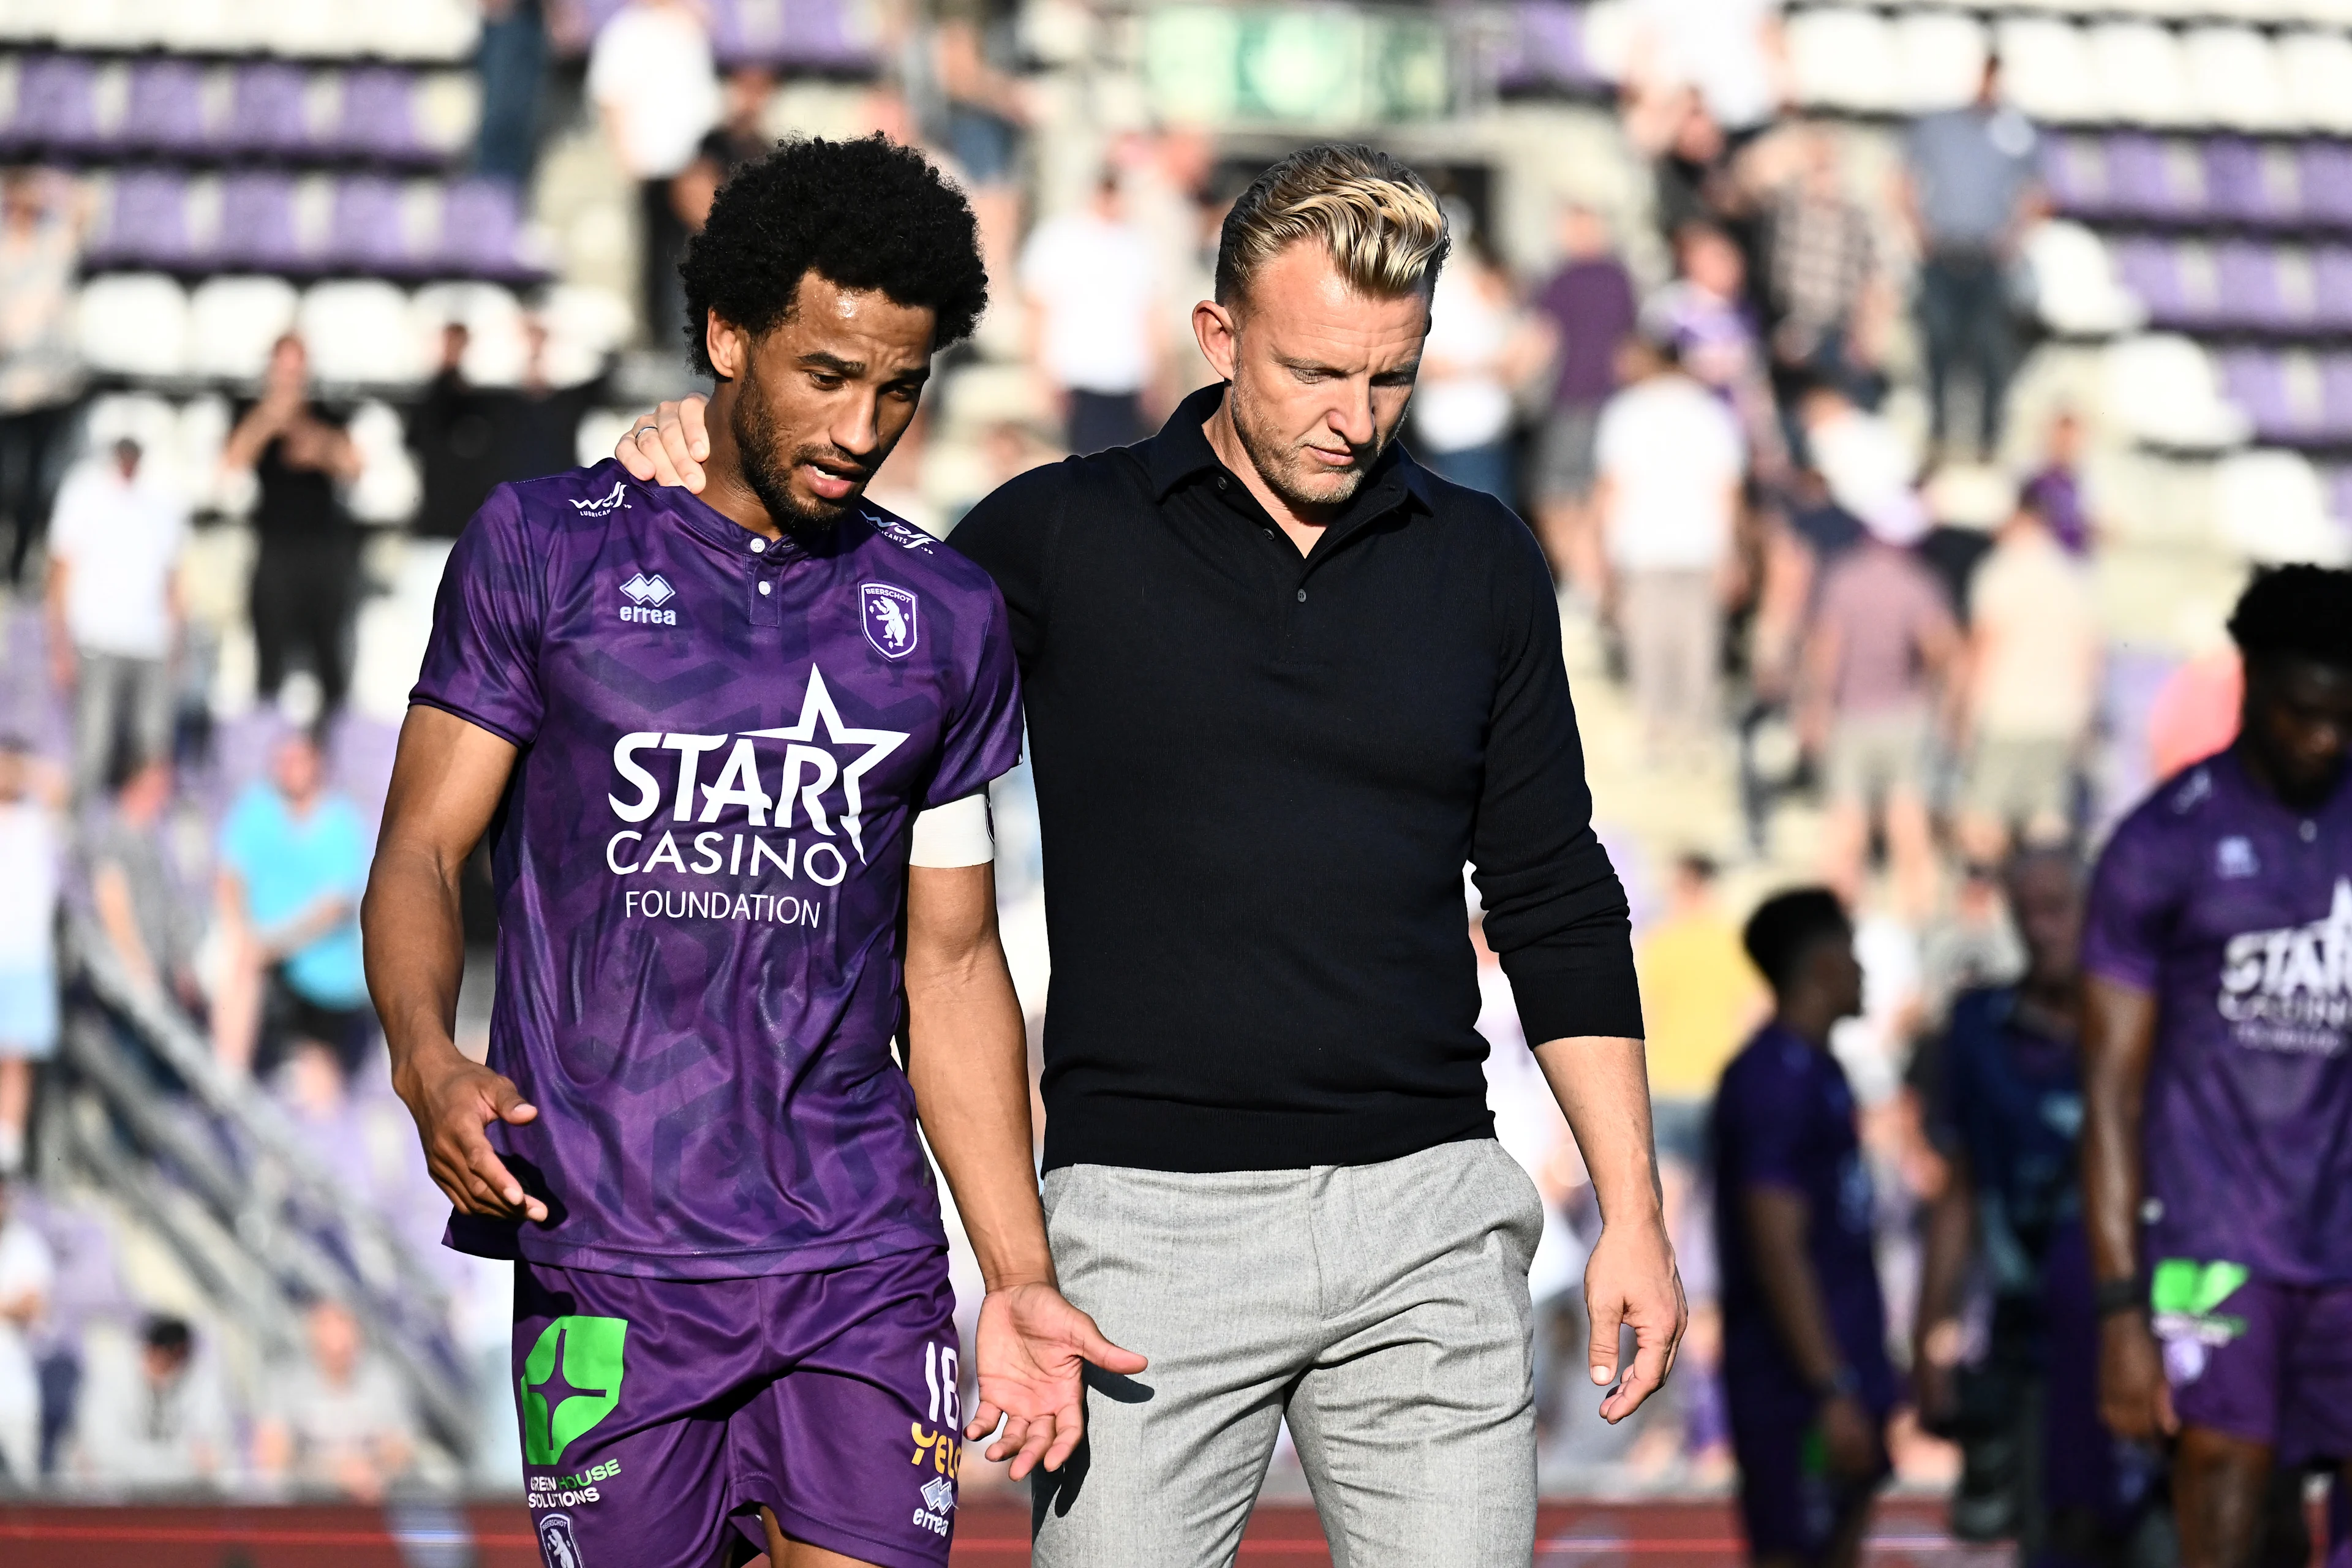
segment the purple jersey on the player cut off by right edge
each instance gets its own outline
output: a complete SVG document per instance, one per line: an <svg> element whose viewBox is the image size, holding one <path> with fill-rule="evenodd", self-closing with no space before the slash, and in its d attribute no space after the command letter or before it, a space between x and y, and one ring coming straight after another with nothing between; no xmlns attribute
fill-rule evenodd
<svg viewBox="0 0 2352 1568"><path fill-rule="evenodd" d="M2293 811L2234 750L2166 780L2100 856L2084 966L2159 1009L2147 1255L2352 1281L2352 785Z"/></svg>

